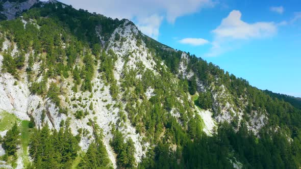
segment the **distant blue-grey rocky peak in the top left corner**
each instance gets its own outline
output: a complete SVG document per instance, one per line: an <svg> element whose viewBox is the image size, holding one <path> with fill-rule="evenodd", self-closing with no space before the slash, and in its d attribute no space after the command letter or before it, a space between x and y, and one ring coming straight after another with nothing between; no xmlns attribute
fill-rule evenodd
<svg viewBox="0 0 301 169"><path fill-rule="evenodd" d="M4 14L8 20L15 19L17 15L21 14L24 10L29 10L33 5L35 5L38 0L27 0L25 2L10 2L10 1L3 1L3 11L1 12Z"/></svg>

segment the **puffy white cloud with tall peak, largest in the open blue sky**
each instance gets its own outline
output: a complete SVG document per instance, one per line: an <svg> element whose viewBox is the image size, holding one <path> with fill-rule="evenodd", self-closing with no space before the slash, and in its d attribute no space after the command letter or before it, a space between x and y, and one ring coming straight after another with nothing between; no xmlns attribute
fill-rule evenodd
<svg viewBox="0 0 301 169"><path fill-rule="evenodd" d="M277 25L273 22L244 22L241 20L241 12L233 10L212 33L213 46L205 57L215 57L232 50L248 39L272 36L277 33Z"/></svg>

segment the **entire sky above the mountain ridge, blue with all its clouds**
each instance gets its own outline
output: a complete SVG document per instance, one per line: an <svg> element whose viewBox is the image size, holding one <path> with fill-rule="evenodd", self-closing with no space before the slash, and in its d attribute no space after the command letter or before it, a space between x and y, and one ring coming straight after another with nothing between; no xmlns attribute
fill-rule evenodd
<svg viewBox="0 0 301 169"><path fill-rule="evenodd" d="M189 51L252 86L301 97L301 1L61 0Z"/></svg>

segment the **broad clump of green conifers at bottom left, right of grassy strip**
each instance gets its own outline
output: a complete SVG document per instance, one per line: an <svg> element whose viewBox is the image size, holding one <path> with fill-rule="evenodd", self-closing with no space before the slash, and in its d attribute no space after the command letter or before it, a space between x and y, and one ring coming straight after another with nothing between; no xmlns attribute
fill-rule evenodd
<svg viewBox="0 0 301 169"><path fill-rule="evenodd" d="M69 126L50 131L48 126L34 129L30 139L33 168L70 168L79 151L80 136L73 136Z"/></svg>

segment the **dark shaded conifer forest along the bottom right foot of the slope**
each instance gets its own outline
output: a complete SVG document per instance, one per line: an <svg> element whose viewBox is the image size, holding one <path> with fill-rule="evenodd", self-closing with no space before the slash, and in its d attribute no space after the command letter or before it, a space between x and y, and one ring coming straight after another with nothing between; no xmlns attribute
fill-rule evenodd
<svg viewBox="0 0 301 169"><path fill-rule="evenodd" d="M163 141L153 150L155 155L149 153L138 168L233 168L229 159L238 159L244 168L298 168L298 139L291 144L277 132L265 133L258 139L245 126L236 133L232 126L223 124L218 134L197 136L177 151L171 151Z"/></svg>

